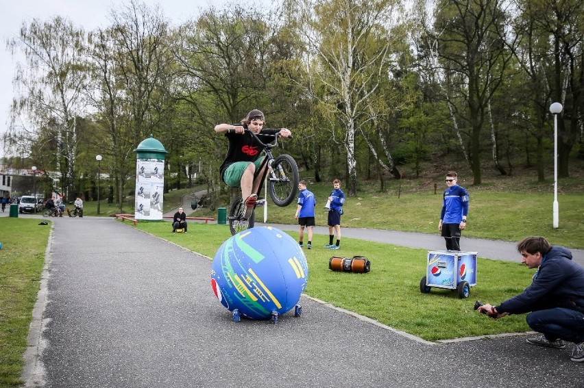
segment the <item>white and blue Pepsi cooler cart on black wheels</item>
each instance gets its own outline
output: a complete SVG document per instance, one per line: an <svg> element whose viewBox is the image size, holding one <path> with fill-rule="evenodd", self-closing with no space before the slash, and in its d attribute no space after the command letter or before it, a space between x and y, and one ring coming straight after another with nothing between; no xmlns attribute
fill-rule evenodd
<svg viewBox="0 0 584 388"><path fill-rule="evenodd" d="M456 289L459 298L468 298L476 285L476 252L454 250L428 251L426 276L419 282L422 294L432 287Z"/></svg>

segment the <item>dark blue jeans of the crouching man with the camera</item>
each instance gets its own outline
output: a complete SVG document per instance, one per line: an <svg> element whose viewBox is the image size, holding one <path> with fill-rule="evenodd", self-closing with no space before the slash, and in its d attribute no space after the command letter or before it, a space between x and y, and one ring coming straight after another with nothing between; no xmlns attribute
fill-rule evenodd
<svg viewBox="0 0 584 388"><path fill-rule="evenodd" d="M533 311L527 315L526 321L529 327L550 341L584 342L584 312L556 307Z"/></svg>

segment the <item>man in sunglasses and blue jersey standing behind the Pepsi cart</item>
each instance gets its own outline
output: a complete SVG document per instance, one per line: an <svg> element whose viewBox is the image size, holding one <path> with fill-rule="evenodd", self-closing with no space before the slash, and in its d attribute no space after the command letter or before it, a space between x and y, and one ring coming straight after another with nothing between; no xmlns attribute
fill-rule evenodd
<svg viewBox="0 0 584 388"><path fill-rule="evenodd" d="M446 249L461 250L461 232L466 229L466 216L468 214L468 193L457 184L458 176L454 171L446 173L446 185L444 190L442 211L438 230L446 240Z"/></svg>

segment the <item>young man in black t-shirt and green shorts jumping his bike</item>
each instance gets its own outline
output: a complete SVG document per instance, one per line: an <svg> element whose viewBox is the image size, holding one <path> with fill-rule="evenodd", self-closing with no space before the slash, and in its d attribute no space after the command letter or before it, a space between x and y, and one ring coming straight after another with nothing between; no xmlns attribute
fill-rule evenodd
<svg viewBox="0 0 584 388"><path fill-rule="evenodd" d="M241 120L241 124L219 124L215 126L215 132L225 133L229 140L227 156L221 164L219 172L221 179L230 187L241 187L241 198L245 198L245 216L250 218L262 184L263 171L254 178L256 169L260 167L260 153L265 146L254 137L245 132L249 129L263 142L269 142L273 135L279 133L280 138L288 138L292 133L289 129L264 129L264 114L258 109L253 109Z"/></svg>

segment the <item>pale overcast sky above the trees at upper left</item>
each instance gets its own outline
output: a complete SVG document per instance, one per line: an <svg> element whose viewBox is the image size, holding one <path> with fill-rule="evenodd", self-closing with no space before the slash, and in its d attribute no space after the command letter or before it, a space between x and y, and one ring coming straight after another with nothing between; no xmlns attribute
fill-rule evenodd
<svg viewBox="0 0 584 388"><path fill-rule="evenodd" d="M149 6L160 5L172 24L178 25L210 6L223 8L227 3L249 3L239 0L141 0ZM262 3L263 0L251 1ZM108 15L112 8L119 9L121 1L116 0L0 0L0 137L8 128L8 109L12 102L14 88L12 79L16 62L6 49L5 41L16 37L23 21L39 18L42 21L51 16L66 16L74 25L86 30L106 27L110 24ZM268 1L266 0L266 3ZM3 157L0 146L0 157Z"/></svg>

